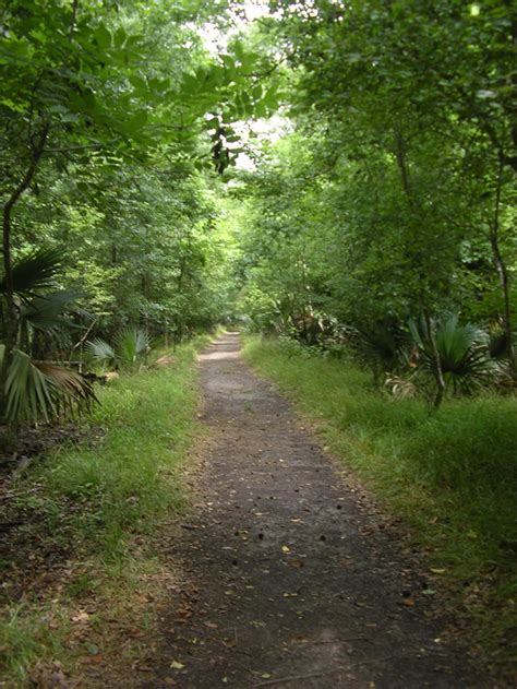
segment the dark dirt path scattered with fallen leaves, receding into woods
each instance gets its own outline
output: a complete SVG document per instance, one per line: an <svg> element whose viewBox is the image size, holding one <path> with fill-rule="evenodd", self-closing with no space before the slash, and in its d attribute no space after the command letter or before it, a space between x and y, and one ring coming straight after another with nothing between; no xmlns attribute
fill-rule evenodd
<svg viewBox="0 0 517 689"><path fill-rule="evenodd" d="M192 582L146 687L493 687L447 645L389 528L227 334L201 357L200 500L171 557ZM382 526L382 524L381 524ZM417 589L417 591L416 591Z"/></svg>

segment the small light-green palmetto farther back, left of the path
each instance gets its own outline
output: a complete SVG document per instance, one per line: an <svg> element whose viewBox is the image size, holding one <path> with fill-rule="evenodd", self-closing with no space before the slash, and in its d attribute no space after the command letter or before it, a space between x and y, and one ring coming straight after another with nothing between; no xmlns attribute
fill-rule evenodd
<svg viewBox="0 0 517 689"><path fill-rule="evenodd" d="M124 328L115 337L111 346L99 337L85 345L85 352L92 359L113 368L137 369L149 349L149 337L139 328Z"/></svg>

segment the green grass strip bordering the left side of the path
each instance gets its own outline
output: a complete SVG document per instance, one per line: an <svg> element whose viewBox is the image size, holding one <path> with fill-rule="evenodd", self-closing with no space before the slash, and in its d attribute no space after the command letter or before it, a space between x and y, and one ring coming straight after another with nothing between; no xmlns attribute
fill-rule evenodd
<svg viewBox="0 0 517 689"><path fill-rule="evenodd" d="M84 652L68 640L76 605L100 601L101 627L103 619L127 615L144 580L160 571L153 538L184 501L180 473L197 430L195 349L207 342L199 337L178 347L172 365L99 389L101 404L87 423L104 429L101 439L53 452L14 486L19 507L33 515L22 526L25 543L64 553L67 571L62 585L48 591L29 579L23 598L2 608L7 686L25 686L38 661L73 666Z"/></svg>

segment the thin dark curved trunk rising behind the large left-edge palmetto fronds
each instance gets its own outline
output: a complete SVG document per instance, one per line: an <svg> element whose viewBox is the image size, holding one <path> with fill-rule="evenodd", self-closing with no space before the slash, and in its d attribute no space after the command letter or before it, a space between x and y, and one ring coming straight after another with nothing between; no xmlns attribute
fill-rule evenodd
<svg viewBox="0 0 517 689"><path fill-rule="evenodd" d="M5 313L4 313L4 329L5 329L5 342L3 352L3 361L0 368L0 417L5 418L7 411L7 390L5 383L8 378L8 370L11 364L12 352L16 345L17 336L17 310L14 301L14 285L13 285L13 271L12 271L12 256L11 256L11 230L12 230L12 212L16 203L20 201L22 194L31 187L31 183L36 175L36 170L41 159L41 155L45 151L49 132L49 124L45 122L43 124L39 138L33 147L31 163L25 175L20 180L17 187L13 189L11 195L3 205L2 213L2 250L3 250L3 280L5 285L4 298L5 298Z"/></svg>

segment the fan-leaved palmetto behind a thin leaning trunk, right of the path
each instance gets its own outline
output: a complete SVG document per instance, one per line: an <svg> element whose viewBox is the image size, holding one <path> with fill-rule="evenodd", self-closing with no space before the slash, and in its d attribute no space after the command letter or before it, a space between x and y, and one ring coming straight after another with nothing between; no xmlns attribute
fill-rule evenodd
<svg viewBox="0 0 517 689"><path fill-rule="evenodd" d="M460 324L456 314L432 324L443 379L454 392L471 394L493 382L500 371L491 359L488 334L472 323ZM433 370L431 333L423 319L410 321L409 329L419 351L421 367Z"/></svg>

